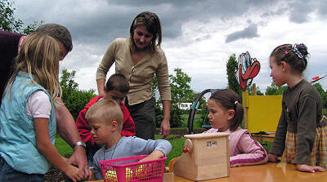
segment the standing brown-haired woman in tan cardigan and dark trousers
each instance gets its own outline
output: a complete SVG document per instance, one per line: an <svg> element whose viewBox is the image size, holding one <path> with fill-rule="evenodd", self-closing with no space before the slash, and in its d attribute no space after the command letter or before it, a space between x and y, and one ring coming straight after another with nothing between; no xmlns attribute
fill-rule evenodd
<svg viewBox="0 0 327 182"><path fill-rule="evenodd" d="M140 13L134 18L129 32L129 38L115 39L102 58L96 78L99 95L104 94L106 74L115 63L116 73L122 73L129 82L130 90L125 105L134 119L136 136L154 139L156 115L151 86L153 76L156 74L163 103L160 132L165 138L170 132L171 93L167 60L160 48L162 40L160 20L154 13Z"/></svg>

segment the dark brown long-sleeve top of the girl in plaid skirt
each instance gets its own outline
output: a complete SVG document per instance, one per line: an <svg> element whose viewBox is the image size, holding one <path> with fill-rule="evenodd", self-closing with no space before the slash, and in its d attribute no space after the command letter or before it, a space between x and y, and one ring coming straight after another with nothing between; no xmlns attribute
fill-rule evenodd
<svg viewBox="0 0 327 182"><path fill-rule="evenodd" d="M307 164L314 144L316 127L323 117L319 92L302 80L283 94L282 114L279 119L270 153L281 156L285 148L286 131L297 133L295 164Z"/></svg>

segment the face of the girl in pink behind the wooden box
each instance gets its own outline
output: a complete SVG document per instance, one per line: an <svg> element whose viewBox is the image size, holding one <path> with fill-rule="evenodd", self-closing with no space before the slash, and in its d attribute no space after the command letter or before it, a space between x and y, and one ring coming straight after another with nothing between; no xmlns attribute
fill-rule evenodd
<svg viewBox="0 0 327 182"><path fill-rule="evenodd" d="M211 127L223 132L229 128L228 110L223 108L220 103L214 99L208 100L208 119Z"/></svg>

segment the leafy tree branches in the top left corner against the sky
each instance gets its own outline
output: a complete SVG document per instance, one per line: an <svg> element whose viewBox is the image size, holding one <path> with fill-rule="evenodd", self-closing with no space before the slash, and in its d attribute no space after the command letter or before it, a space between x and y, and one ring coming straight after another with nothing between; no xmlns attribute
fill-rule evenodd
<svg viewBox="0 0 327 182"><path fill-rule="evenodd" d="M27 25L23 28L23 22L21 19L17 19L14 16L15 7L14 2L9 0L0 1L0 30L5 30L9 32L14 32L18 34L29 34L34 31L38 26L40 26L43 21L34 21L34 23Z"/></svg>

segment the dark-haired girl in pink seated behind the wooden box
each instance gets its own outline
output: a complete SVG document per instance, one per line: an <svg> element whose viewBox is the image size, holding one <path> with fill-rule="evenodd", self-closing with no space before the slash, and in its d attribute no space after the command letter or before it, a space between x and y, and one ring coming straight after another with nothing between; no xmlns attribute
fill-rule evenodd
<svg viewBox="0 0 327 182"><path fill-rule="evenodd" d="M209 98L208 119L212 126L204 133L229 133L230 166L266 164L267 152L247 129L240 126L243 120L241 97L232 90L215 91Z"/></svg>

